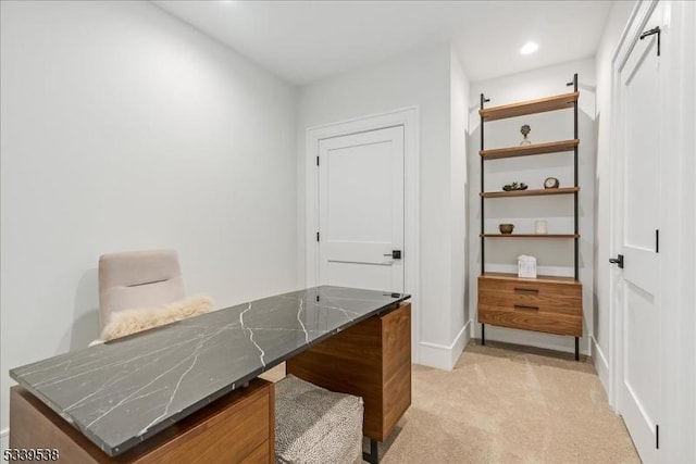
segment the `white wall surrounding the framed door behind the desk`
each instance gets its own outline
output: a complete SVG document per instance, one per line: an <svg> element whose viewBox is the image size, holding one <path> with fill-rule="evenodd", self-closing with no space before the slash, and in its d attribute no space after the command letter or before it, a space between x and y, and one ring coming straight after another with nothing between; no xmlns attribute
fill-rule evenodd
<svg viewBox="0 0 696 464"><path fill-rule="evenodd" d="M403 57L302 87L298 116L298 190L303 195L307 128L419 106L421 308L417 311L420 311L421 322L420 361L445 368L451 368L451 359L459 355L452 354L452 349L457 348L452 334L461 331L463 321L463 309L455 308L451 298L450 79L449 45L424 47ZM300 204L300 216L303 216L303 209L304 205ZM302 263L299 272L304 275L303 238L308 231L303 224L299 227L298 262Z"/></svg>

